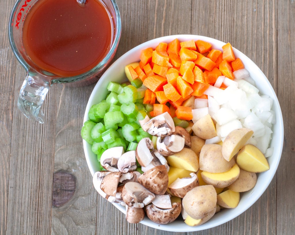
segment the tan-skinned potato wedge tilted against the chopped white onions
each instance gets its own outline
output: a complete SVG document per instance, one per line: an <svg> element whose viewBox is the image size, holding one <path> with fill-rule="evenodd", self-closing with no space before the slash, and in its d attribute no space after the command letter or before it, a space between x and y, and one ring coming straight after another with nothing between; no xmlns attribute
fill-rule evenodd
<svg viewBox="0 0 295 235"><path fill-rule="evenodd" d="M230 161L253 135L253 130L240 128L232 130L222 144L222 156Z"/></svg>

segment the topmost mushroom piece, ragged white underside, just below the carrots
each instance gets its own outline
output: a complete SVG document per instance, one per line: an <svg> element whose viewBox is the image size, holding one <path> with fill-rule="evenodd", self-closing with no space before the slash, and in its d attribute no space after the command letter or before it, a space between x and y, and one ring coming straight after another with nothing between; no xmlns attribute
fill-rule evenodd
<svg viewBox="0 0 295 235"><path fill-rule="evenodd" d="M168 112L164 112L152 119L148 116L140 121L142 129L152 136L168 136L175 131L175 125L171 115Z"/></svg>

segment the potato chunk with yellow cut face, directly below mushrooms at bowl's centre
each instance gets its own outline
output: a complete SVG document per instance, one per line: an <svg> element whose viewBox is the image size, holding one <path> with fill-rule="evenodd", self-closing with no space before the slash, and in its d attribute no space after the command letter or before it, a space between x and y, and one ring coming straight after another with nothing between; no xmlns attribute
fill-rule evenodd
<svg viewBox="0 0 295 235"><path fill-rule="evenodd" d="M183 148L167 157L167 162L171 167L178 167L188 171L196 172L199 169L199 157L189 148Z"/></svg>

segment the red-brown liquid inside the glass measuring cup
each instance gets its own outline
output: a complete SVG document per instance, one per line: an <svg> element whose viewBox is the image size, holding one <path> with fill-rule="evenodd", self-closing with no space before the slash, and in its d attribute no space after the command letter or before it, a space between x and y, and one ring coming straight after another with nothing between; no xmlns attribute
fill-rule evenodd
<svg viewBox="0 0 295 235"><path fill-rule="evenodd" d="M38 1L23 26L24 49L32 62L62 77L96 66L111 37L109 15L98 0L87 0L83 7L76 0Z"/></svg>

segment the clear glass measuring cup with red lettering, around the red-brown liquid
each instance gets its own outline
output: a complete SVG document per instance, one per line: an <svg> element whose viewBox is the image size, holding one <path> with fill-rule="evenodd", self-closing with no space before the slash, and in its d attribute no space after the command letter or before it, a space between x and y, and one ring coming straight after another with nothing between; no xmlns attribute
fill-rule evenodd
<svg viewBox="0 0 295 235"><path fill-rule="evenodd" d="M38 66L32 61L27 51L24 49L24 21L26 17L28 17L30 9L38 1L40 3L41 1L44 2L48 0L18 0L16 2L9 21L9 39L15 56L27 71L27 76L19 92L17 106L27 118L43 123L44 114L41 110L41 106L51 85L55 83L71 83L73 86L83 86L94 83L99 79L99 74L105 70L116 53L121 35L121 18L115 0L96 0L106 9L112 28L111 41L104 57L101 61L96 63L94 67L89 68L82 74L74 76L58 75L46 68L44 69ZM73 4L78 4L76 0L68 1L72 1ZM50 25L45 25L44 27L50 27ZM71 58L68 59L71 60Z"/></svg>

